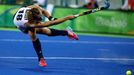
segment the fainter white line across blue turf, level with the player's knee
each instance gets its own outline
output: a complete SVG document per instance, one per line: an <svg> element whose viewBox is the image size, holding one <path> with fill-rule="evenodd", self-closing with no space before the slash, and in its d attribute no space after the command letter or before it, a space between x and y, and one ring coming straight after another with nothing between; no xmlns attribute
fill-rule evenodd
<svg viewBox="0 0 134 75"><path fill-rule="evenodd" d="M25 39L0 39L3 42L31 42ZM41 40L44 43L74 43L74 44L127 44L134 45L134 42L120 42L120 41L64 41L64 40Z"/></svg>

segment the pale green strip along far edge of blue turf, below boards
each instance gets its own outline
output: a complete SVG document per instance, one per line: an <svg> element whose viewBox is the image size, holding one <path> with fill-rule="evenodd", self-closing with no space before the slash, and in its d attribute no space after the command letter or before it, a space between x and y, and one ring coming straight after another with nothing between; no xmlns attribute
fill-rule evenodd
<svg viewBox="0 0 134 75"><path fill-rule="evenodd" d="M0 28L0 30L3 31L17 31L20 32L17 28ZM79 35L90 35L90 36L105 36L105 37L114 37L114 38L132 38L134 39L134 36L132 35L113 35L113 34L97 34L97 33L79 33L77 32L77 34Z"/></svg>

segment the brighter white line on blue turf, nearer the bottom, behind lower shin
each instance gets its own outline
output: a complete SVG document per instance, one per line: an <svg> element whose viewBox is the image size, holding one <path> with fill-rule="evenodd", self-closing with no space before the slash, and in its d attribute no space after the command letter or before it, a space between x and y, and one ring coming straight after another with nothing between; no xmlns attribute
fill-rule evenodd
<svg viewBox="0 0 134 75"><path fill-rule="evenodd" d="M0 57L0 59L37 59L37 57ZM49 60L109 60L109 61L134 61L129 58L83 58L83 57L45 57Z"/></svg>

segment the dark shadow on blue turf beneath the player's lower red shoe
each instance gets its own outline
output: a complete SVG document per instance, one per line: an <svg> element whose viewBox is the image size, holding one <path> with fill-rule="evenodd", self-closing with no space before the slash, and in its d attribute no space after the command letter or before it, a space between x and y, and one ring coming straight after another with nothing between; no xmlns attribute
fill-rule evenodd
<svg viewBox="0 0 134 75"><path fill-rule="evenodd" d="M62 68L62 67L35 67L35 68L18 68L24 71L31 71L35 73L57 73L57 74L85 74L80 68Z"/></svg>

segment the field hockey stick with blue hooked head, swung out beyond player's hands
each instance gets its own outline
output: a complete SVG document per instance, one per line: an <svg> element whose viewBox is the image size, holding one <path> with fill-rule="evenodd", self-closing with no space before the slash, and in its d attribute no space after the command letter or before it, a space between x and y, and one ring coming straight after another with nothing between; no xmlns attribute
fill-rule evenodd
<svg viewBox="0 0 134 75"><path fill-rule="evenodd" d="M92 9L92 10L89 10L89 11L85 11L85 12L82 12L80 14L76 14L74 15L75 17L80 17L80 16L83 16L83 15L88 15L88 14L91 14L91 13L95 13L95 12L98 12L100 10L105 10L105 9L108 9L110 7L110 2L109 0L105 0L104 1L104 4L105 6L103 7L99 7L99 8L96 8L96 9Z"/></svg>

